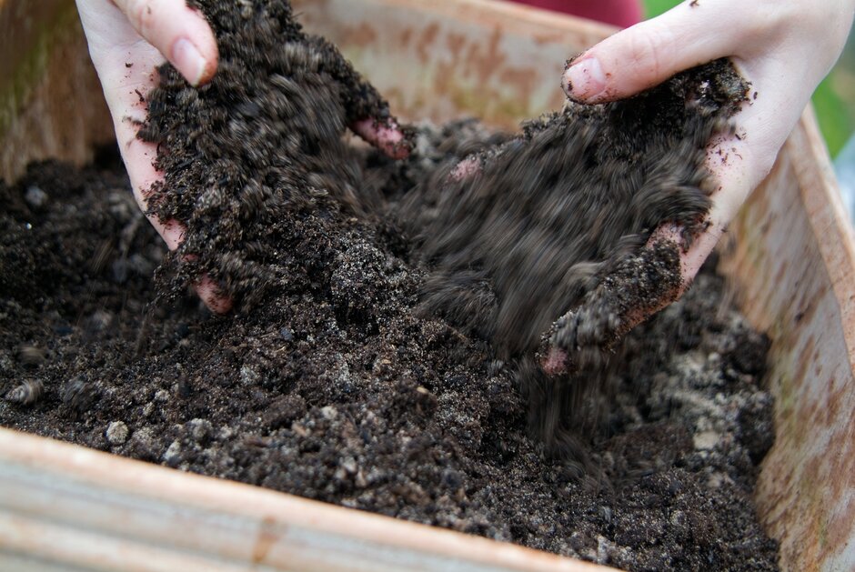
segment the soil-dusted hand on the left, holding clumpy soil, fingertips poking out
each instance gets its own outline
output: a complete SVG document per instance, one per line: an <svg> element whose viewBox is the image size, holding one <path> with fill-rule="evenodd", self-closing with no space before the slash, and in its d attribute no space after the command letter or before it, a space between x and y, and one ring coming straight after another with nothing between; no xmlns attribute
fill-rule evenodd
<svg viewBox="0 0 855 572"><path fill-rule="evenodd" d="M216 73L216 39L205 17L184 0L77 0L77 10L136 202L147 213L146 193L163 174L153 165L156 146L136 134L146 121L146 96L157 84L156 67L168 59L190 84L206 84ZM407 155L394 123L378 125L366 118L353 129L393 158ZM170 250L180 245L185 229L178 221L148 219ZM232 302L217 290L207 276L196 284L206 306L225 313Z"/></svg>

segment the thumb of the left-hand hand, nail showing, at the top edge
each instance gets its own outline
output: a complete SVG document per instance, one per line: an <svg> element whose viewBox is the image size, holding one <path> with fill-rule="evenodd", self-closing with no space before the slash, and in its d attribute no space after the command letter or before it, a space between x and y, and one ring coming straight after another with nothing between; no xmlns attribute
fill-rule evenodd
<svg viewBox="0 0 855 572"><path fill-rule="evenodd" d="M205 17L184 0L114 0L136 32L163 54L192 85L216 72L216 39Z"/></svg>

